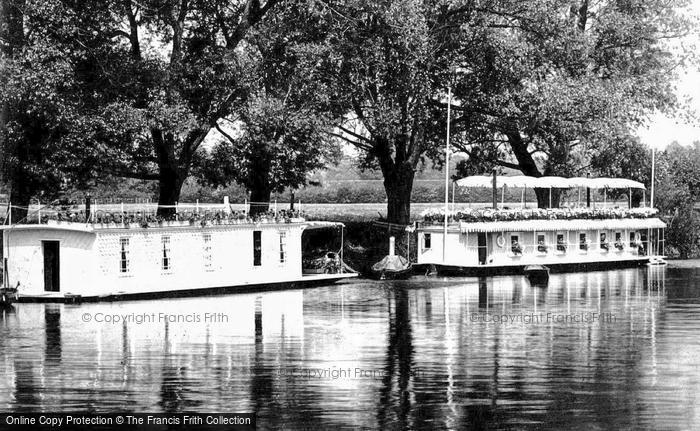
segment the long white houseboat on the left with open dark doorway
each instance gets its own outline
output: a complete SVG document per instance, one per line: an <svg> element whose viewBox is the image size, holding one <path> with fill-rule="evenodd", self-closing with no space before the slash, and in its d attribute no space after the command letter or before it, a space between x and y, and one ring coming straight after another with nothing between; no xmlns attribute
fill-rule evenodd
<svg viewBox="0 0 700 431"><path fill-rule="evenodd" d="M84 215L83 215L84 217ZM112 300L301 287L356 274L340 256L302 268L302 234L336 227L299 217L240 214L156 221L88 216L2 227L5 284L20 301ZM342 234L341 234L342 243Z"/></svg>

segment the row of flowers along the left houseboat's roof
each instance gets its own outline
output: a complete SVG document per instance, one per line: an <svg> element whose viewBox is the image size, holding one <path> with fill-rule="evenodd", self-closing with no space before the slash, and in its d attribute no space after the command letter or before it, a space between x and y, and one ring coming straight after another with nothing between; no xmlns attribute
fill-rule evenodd
<svg viewBox="0 0 700 431"><path fill-rule="evenodd" d="M43 214L41 223L91 223L101 226L124 226L131 227L159 227L159 226L180 226L180 225L218 225L218 224L246 224L246 223L291 223L303 221L304 216L296 210L268 211L250 216L242 211L204 211L181 212L170 217L160 217L155 214L143 212L122 213L103 212L94 213L90 220L87 220L84 211L58 211L50 214Z"/></svg>

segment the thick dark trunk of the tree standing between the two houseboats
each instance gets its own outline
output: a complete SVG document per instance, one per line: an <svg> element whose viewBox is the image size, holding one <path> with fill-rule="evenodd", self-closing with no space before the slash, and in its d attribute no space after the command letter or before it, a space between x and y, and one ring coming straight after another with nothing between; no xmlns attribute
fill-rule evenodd
<svg viewBox="0 0 700 431"><path fill-rule="evenodd" d="M387 221L406 225L411 222L411 192L415 169L408 162L382 169L387 197Z"/></svg>

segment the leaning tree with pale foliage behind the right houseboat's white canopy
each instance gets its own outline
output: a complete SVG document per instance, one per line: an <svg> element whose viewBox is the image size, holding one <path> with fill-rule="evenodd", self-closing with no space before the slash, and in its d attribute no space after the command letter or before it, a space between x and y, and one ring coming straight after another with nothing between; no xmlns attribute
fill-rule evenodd
<svg viewBox="0 0 700 431"><path fill-rule="evenodd" d="M585 175L655 110L673 111L664 44L687 34L683 1L542 1L489 6L485 62L455 88L464 172ZM478 65L477 65L478 66ZM478 89L475 97L474 89ZM461 113L461 115L459 114ZM540 206L548 192L538 190Z"/></svg>

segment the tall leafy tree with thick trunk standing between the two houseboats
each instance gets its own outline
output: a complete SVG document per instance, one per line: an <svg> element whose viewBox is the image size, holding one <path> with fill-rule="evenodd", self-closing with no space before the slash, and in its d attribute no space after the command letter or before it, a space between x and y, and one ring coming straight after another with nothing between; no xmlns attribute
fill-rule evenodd
<svg viewBox="0 0 700 431"><path fill-rule="evenodd" d="M439 159L444 142L445 110L436 101L451 67L480 43L470 27L475 5L348 1L322 11L323 78L335 114L345 115L336 135L362 152L365 166L379 167L387 219L406 224L416 169Z"/></svg>

